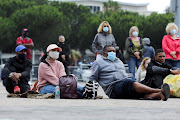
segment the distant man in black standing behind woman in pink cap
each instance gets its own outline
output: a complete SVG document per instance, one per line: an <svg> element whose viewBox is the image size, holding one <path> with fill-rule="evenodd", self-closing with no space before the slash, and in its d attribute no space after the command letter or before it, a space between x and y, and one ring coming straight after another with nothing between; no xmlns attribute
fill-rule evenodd
<svg viewBox="0 0 180 120"><path fill-rule="evenodd" d="M63 35L59 36L59 42L57 43L57 46L62 49L62 51L59 53L58 60L63 63L65 72L68 74L68 68L69 65L69 54L70 54L70 48L65 43L65 37Z"/></svg>

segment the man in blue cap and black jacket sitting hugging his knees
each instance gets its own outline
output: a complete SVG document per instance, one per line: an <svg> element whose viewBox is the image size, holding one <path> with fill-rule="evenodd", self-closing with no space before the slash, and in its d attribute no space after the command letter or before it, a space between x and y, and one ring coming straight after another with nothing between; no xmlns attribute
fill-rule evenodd
<svg viewBox="0 0 180 120"><path fill-rule="evenodd" d="M9 58L6 62L3 72L6 76L5 87L9 93L24 93L30 90L28 81L30 80L30 71L32 63L27 60L27 48L23 45L16 47L16 56Z"/></svg>

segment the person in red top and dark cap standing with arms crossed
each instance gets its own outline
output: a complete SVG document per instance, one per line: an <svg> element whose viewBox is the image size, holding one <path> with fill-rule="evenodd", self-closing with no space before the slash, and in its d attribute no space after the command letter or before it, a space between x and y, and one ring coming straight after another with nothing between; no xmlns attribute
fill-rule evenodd
<svg viewBox="0 0 180 120"><path fill-rule="evenodd" d="M22 36L17 38L16 41L17 45L24 45L26 48L28 48L27 51L27 59L31 60L31 47L34 46L34 43L31 38L28 37L28 29L24 28L22 30Z"/></svg>

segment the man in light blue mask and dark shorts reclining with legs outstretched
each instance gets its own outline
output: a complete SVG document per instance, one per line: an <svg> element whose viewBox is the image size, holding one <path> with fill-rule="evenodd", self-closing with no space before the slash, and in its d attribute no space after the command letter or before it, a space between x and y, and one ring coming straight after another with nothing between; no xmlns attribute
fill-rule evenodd
<svg viewBox="0 0 180 120"><path fill-rule="evenodd" d="M107 45L103 49L103 57L92 65L90 81L97 81L109 98L114 99L162 99L170 96L168 84L161 89L153 89L135 82L125 72L122 61L116 58L115 48Z"/></svg>

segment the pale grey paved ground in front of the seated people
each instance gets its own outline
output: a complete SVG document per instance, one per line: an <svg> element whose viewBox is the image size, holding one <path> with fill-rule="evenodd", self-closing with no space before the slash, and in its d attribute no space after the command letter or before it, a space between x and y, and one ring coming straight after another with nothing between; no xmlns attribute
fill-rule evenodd
<svg viewBox="0 0 180 120"><path fill-rule="evenodd" d="M80 83L84 84L84 83ZM180 98L168 101L7 98L0 82L0 120L179 120Z"/></svg>

